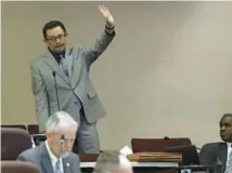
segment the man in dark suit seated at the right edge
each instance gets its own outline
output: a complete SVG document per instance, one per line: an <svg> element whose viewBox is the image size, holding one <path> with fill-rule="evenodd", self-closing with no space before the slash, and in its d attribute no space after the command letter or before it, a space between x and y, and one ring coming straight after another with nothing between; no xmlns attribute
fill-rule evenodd
<svg viewBox="0 0 232 173"><path fill-rule="evenodd" d="M223 142L205 144L199 152L199 161L207 165L220 162L222 173L232 173L232 114L223 115L219 124Z"/></svg>

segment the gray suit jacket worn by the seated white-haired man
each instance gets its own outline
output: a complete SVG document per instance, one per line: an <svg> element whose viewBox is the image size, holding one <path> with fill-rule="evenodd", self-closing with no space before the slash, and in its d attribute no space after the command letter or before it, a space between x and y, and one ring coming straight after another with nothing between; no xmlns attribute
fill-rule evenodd
<svg viewBox="0 0 232 173"><path fill-rule="evenodd" d="M17 160L29 161L39 168L40 173L54 173L46 143L23 151ZM69 167L67 165L69 163ZM78 155L72 152L63 159L64 173L81 173Z"/></svg>

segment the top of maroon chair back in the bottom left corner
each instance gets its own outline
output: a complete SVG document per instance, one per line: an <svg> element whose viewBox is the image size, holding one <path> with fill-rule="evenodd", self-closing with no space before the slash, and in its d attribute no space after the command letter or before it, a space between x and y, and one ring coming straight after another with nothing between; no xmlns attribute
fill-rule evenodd
<svg viewBox="0 0 232 173"><path fill-rule="evenodd" d="M31 162L1 161L1 173L39 173L39 168Z"/></svg>

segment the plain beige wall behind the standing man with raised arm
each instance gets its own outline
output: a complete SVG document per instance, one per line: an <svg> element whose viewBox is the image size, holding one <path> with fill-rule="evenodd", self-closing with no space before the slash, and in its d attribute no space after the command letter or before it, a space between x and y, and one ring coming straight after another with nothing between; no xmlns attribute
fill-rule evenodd
<svg viewBox="0 0 232 173"><path fill-rule="evenodd" d="M46 49L41 28L59 18L69 43L91 45L104 19L100 2L2 2L2 123L35 123L29 63ZM232 2L104 2L117 37L92 65L107 111L103 149L131 137L219 141L232 108Z"/></svg>

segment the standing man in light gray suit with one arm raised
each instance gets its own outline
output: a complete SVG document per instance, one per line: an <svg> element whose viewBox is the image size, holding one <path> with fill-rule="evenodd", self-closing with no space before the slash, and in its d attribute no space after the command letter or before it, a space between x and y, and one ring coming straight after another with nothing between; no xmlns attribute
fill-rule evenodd
<svg viewBox="0 0 232 173"><path fill-rule="evenodd" d="M64 24L51 21L42 30L48 50L30 65L40 133L46 131L49 115L60 109L64 110L80 123L76 139L78 151L86 154L100 151L95 123L105 115L89 78L90 65L107 49L115 37L112 14L104 5L99 5L99 10L106 24L94 46L66 46L67 30Z"/></svg>

